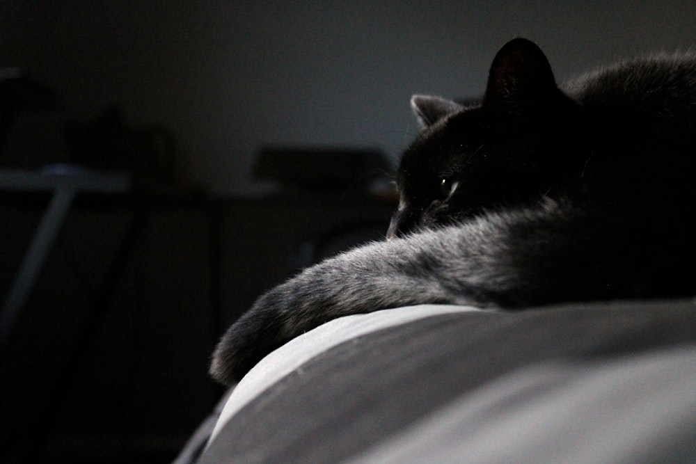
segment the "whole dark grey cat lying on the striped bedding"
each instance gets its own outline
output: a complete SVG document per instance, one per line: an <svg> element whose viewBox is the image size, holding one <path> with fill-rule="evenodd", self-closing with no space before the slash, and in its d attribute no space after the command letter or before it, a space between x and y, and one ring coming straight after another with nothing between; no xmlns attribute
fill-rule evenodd
<svg viewBox="0 0 696 464"><path fill-rule="evenodd" d="M389 239L259 298L217 347L216 379L347 314L696 293L695 55L626 62L562 91L516 39L481 104L412 104L422 133L402 157Z"/></svg>

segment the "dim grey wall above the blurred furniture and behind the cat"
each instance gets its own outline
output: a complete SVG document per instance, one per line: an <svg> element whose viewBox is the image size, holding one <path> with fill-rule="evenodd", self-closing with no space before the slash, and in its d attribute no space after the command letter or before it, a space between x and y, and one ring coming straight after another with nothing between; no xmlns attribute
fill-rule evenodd
<svg viewBox="0 0 696 464"><path fill-rule="evenodd" d="M174 132L184 177L245 193L262 144L400 152L415 130L411 94L482 92L515 35L537 40L564 79L693 45L695 23L693 1L3 1L0 65L65 100L42 116L49 141L15 138L15 161L60 157L47 126L117 102L134 124Z"/></svg>

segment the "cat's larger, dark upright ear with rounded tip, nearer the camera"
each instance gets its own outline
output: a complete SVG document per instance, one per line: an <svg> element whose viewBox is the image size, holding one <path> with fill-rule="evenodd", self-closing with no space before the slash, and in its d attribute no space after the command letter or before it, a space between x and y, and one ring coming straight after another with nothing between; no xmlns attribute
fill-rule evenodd
<svg viewBox="0 0 696 464"><path fill-rule="evenodd" d="M493 59L484 105L519 109L543 101L556 90L544 52L534 42L516 38L503 45Z"/></svg>

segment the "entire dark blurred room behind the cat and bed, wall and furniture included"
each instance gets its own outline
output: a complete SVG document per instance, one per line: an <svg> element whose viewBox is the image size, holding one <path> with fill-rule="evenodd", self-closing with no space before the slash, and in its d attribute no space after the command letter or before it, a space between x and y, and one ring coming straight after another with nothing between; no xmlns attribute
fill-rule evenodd
<svg viewBox="0 0 696 464"><path fill-rule="evenodd" d="M386 231L413 93L558 81L693 1L0 1L0 462L169 462L258 294Z"/></svg>

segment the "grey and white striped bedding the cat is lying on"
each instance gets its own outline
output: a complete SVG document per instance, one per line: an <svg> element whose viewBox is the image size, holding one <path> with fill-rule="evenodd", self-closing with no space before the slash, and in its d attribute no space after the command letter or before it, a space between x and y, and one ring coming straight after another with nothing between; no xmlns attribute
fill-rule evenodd
<svg viewBox="0 0 696 464"><path fill-rule="evenodd" d="M329 321L264 358L177 463L693 463L696 300Z"/></svg>

